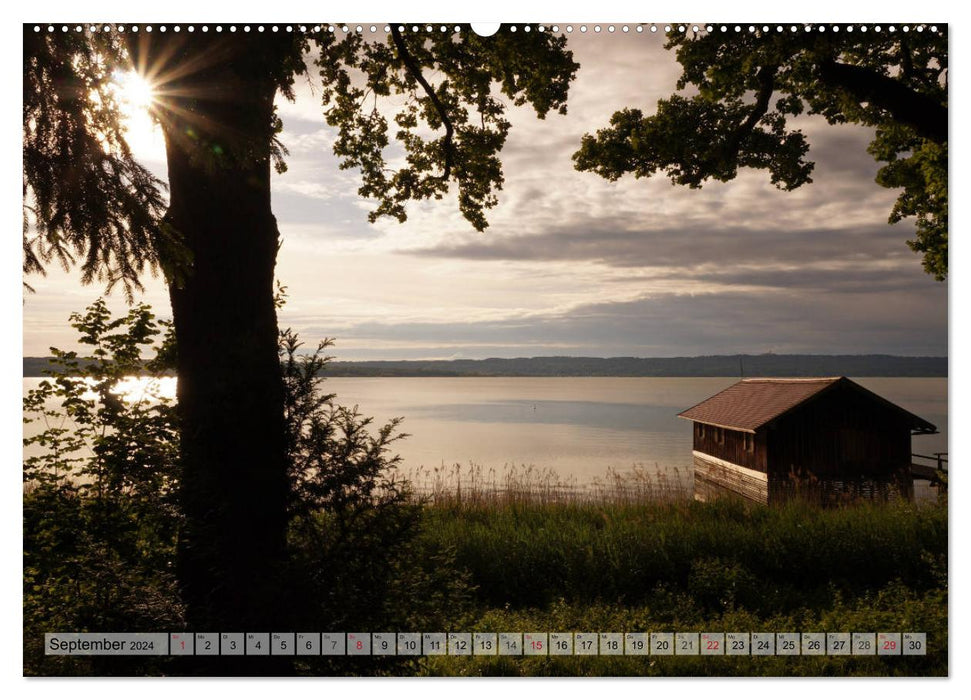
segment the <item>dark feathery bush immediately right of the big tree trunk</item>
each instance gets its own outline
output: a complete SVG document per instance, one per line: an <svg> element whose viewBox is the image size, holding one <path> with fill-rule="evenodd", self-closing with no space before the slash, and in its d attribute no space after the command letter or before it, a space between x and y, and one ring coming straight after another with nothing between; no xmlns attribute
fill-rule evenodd
<svg viewBox="0 0 971 700"><path fill-rule="evenodd" d="M466 577L449 548L419 539L423 509L398 478L390 451L401 419L377 430L357 408L334 404L319 375L331 340L310 354L281 333L290 465L290 570L293 628L421 630L458 615ZM375 660L368 673L408 661ZM302 660L316 673L360 673L359 659Z"/></svg>

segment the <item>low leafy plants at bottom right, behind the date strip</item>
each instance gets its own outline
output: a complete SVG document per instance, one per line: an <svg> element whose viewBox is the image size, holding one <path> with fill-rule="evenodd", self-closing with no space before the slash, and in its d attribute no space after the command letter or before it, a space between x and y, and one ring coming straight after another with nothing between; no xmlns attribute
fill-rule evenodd
<svg viewBox="0 0 971 700"><path fill-rule="evenodd" d="M543 608L487 608L466 629L489 632L860 632L919 630L925 656L439 656L429 676L920 677L948 675L947 596L888 582L871 595L788 612L705 612L682 595L643 605L556 600Z"/></svg>

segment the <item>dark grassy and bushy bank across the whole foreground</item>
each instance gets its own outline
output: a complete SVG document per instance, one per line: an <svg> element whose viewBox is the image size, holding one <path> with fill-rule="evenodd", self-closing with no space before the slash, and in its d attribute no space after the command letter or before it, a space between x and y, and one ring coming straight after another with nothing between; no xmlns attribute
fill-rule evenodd
<svg viewBox="0 0 971 700"><path fill-rule="evenodd" d="M42 498L44 493L25 491L25 552L30 553L25 558L25 673L190 672L175 658L44 656L45 631L182 628L177 590L162 576L164 566L133 569L118 556L104 556L114 550L92 539L98 531L76 537L73 525L98 502L60 492ZM638 500L630 489L593 498L589 492L570 496L557 489L530 495L505 483L495 492L441 491L423 507L409 505L395 513L414 523L415 539L392 540L388 533L394 530L378 527L377 511L370 509L344 535L336 516L320 521L323 539L294 551L324 564L308 568L294 562L288 580L310 592L301 595L297 586L289 594L293 622L281 623L283 631L913 631L927 634L927 654L303 657L294 660L293 672L941 676L948 671L945 505L766 508ZM143 518L119 521L124 513L118 510L111 515L102 533L106 542L118 540L112 546L124 551L130 548L129 535L133 542L149 542L139 525ZM149 544L153 556L165 557L162 562L173 558L174 540L168 549ZM308 607L307 600L317 607ZM254 672L261 663L254 658Z"/></svg>

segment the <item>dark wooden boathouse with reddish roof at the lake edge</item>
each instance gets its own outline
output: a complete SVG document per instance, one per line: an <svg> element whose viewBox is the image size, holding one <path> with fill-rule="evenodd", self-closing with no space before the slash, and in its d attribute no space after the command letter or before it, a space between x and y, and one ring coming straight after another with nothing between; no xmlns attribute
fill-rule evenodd
<svg viewBox="0 0 971 700"><path fill-rule="evenodd" d="M937 432L846 377L743 379L678 415L693 423L699 500L909 496L910 438Z"/></svg>

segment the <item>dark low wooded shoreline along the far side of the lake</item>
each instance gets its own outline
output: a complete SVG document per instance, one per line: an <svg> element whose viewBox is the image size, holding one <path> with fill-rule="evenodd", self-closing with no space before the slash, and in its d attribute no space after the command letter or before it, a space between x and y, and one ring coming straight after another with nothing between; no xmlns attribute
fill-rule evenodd
<svg viewBox="0 0 971 700"><path fill-rule="evenodd" d="M50 358L25 357L23 376L43 377ZM947 377L946 357L898 355L709 355L529 357L331 362L328 377Z"/></svg>

